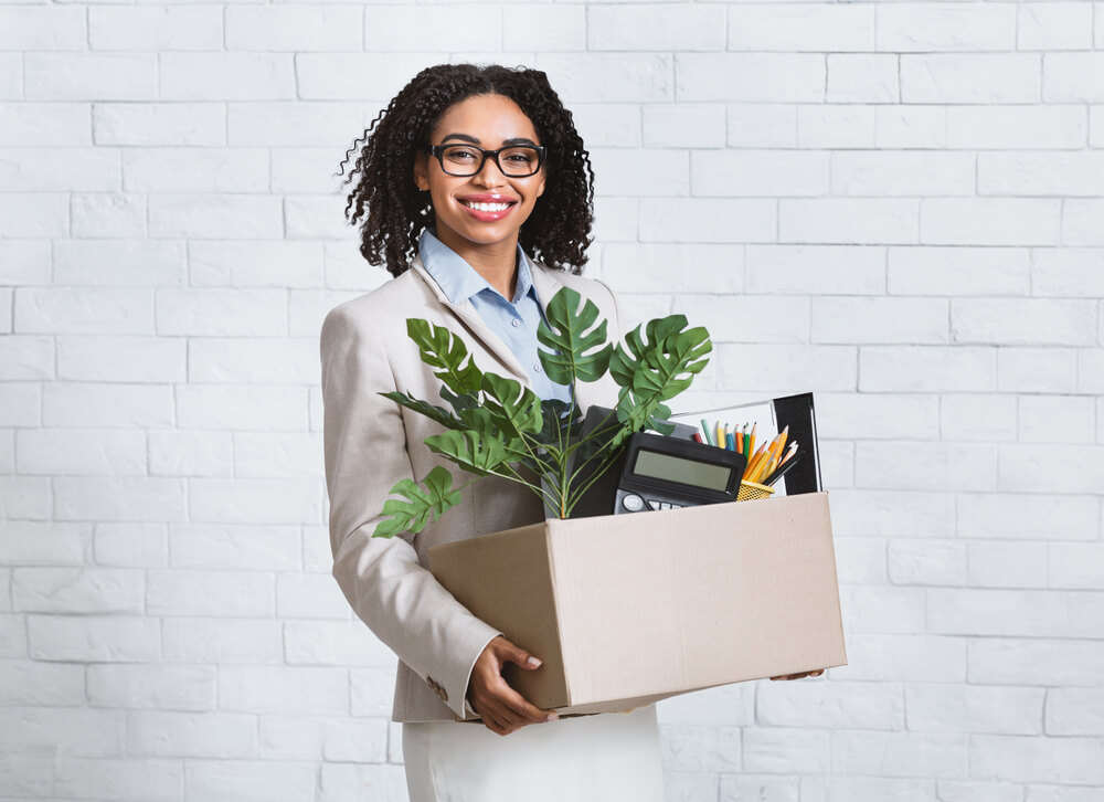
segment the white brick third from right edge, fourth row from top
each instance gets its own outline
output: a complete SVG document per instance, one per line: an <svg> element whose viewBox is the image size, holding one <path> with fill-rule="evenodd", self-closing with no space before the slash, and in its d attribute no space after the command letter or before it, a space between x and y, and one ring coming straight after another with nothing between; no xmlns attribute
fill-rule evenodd
<svg viewBox="0 0 1104 802"><path fill-rule="evenodd" d="M802 151L699 151L690 157L690 181L696 196L824 196L828 193L828 156Z"/></svg>

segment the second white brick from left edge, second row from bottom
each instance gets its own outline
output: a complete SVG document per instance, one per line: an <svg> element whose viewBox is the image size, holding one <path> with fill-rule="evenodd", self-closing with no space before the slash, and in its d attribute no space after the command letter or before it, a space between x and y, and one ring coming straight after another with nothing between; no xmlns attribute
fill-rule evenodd
<svg viewBox="0 0 1104 802"><path fill-rule="evenodd" d="M252 758L257 720L233 713L136 710L127 718L127 753L151 758Z"/></svg>

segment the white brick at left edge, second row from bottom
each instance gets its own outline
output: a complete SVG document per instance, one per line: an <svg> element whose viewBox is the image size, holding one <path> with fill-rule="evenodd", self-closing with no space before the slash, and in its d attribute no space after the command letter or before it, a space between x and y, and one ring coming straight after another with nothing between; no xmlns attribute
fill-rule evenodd
<svg viewBox="0 0 1104 802"><path fill-rule="evenodd" d="M0 708L0 751L4 754L49 753L66 758L112 758L123 754L124 714L64 707Z"/></svg>

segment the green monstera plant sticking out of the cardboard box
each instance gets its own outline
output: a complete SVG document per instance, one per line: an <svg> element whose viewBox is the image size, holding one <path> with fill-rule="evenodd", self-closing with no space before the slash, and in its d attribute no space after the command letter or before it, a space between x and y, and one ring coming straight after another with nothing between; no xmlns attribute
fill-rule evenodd
<svg viewBox="0 0 1104 802"><path fill-rule="evenodd" d="M646 429L670 433L664 420L671 411L665 402L690 387L709 361L712 344L704 328L688 328L684 316L671 315L637 326L624 346L615 347L606 341L598 308L567 287L552 297L544 313L548 323L541 323L537 337L550 349L542 349L540 359L552 381L574 387L608 372L620 388L616 408L586 437L580 436L582 419L574 401L542 401L513 379L482 372L459 337L425 320L408 319L406 333L422 361L440 379L440 397L450 409L406 393L382 394L445 428L425 439L431 451L477 478L518 482L566 518L613 465L630 434ZM421 483L402 479L391 488L402 498L384 504L389 517L375 527L374 537L422 531L459 504L460 490L468 485L454 488L452 474L442 466Z"/></svg>

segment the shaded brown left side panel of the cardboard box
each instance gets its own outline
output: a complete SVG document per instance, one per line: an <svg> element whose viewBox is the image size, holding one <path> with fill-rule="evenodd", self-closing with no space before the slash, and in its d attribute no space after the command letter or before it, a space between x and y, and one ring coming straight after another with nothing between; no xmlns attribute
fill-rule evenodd
<svg viewBox="0 0 1104 802"><path fill-rule="evenodd" d="M458 602L544 662L534 672L508 665L510 685L542 709L566 705L544 524L435 547L429 564Z"/></svg>

